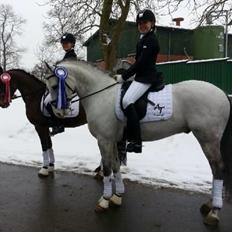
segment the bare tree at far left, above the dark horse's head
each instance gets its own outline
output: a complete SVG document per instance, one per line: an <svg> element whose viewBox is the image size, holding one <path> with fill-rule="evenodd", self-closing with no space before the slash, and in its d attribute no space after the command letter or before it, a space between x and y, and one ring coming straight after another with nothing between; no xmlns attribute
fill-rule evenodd
<svg viewBox="0 0 232 232"><path fill-rule="evenodd" d="M10 5L0 5L0 64L4 70L18 65L23 49L17 47L15 39L22 33L24 23Z"/></svg>

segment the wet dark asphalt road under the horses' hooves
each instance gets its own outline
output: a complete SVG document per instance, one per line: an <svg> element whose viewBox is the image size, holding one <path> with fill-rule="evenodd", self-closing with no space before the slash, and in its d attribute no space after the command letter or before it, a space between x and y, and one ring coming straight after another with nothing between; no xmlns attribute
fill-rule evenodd
<svg viewBox="0 0 232 232"><path fill-rule="evenodd" d="M232 206L220 225L206 227L199 207L207 195L125 181L120 208L94 211L102 184L92 176L0 164L0 231L4 232L232 232Z"/></svg>

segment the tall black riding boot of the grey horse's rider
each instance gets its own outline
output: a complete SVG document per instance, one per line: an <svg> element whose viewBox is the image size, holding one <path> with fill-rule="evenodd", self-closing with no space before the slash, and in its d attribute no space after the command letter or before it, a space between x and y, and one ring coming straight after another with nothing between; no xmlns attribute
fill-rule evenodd
<svg viewBox="0 0 232 232"><path fill-rule="evenodd" d="M130 142L127 145L127 152L142 152L142 140L140 132L140 123L134 104L130 104L125 109L125 115L127 116L127 138Z"/></svg>

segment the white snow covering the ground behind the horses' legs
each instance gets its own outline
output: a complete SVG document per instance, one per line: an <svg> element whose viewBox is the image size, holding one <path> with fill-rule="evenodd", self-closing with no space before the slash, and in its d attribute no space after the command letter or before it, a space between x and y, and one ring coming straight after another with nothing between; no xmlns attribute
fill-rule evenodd
<svg viewBox="0 0 232 232"><path fill-rule="evenodd" d="M0 109L0 119L0 161L40 167L40 141L26 119L22 100ZM66 129L52 140L56 169L93 174L100 153L86 125ZM209 192L212 180L208 162L191 133L144 143L142 154L128 154L122 172L125 178L147 184L203 192Z"/></svg>

